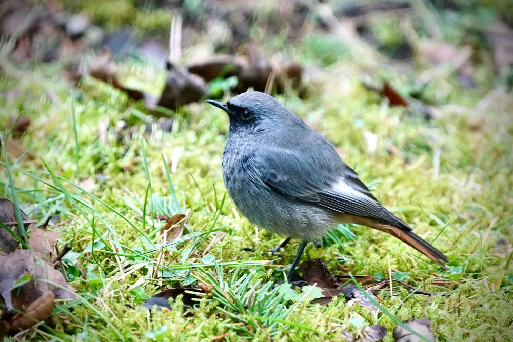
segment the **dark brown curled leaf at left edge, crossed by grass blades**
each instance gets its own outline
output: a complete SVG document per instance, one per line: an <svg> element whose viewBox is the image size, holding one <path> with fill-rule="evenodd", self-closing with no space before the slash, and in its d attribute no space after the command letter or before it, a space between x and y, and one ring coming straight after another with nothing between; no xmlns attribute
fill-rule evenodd
<svg viewBox="0 0 513 342"><path fill-rule="evenodd" d="M21 211L21 210L20 210ZM25 231L29 228L29 226L35 221L27 216L23 211L22 221L23 226L25 227ZM18 223L16 220L16 213L14 212L14 204L7 198L0 197L0 222L9 227L16 235L19 235ZM0 251L6 254L12 253L19 242L12 237L10 233L8 233L5 229L0 229Z"/></svg>

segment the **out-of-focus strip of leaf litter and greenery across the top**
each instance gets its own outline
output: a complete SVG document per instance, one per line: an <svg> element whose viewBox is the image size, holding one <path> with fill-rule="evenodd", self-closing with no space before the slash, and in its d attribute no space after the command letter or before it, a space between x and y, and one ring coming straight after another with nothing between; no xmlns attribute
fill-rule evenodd
<svg viewBox="0 0 513 342"><path fill-rule="evenodd" d="M323 74L330 68L344 76L333 86L356 75L391 105L431 116L429 106L459 102L453 86L510 90L512 7L492 0L4 0L2 59L58 65L74 84L91 74L152 110L266 86L292 86L305 97L330 82ZM117 73L119 61L156 70L170 62L165 83L174 88Z"/></svg>

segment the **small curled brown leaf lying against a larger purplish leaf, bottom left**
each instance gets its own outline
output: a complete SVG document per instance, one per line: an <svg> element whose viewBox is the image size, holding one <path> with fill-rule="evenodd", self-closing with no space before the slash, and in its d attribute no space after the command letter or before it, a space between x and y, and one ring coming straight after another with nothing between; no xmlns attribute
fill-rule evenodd
<svg viewBox="0 0 513 342"><path fill-rule="evenodd" d="M10 332L18 332L28 329L36 323L45 320L53 310L55 295L51 291L45 291L39 298L33 301L22 313L17 313L9 320Z"/></svg>

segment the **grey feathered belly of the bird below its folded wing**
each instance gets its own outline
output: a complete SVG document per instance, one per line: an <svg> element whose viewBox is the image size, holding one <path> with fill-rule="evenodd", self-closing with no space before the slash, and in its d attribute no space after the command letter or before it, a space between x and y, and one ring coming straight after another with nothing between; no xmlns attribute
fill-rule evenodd
<svg viewBox="0 0 513 342"><path fill-rule="evenodd" d="M253 224L297 239L318 241L336 223L334 214L313 204L284 197L249 177L225 179L231 199Z"/></svg>

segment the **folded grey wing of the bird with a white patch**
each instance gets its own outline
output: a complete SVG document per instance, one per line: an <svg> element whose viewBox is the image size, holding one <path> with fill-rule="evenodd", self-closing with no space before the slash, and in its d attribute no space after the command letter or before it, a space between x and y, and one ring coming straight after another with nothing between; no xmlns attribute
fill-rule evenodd
<svg viewBox="0 0 513 342"><path fill-rule="evenodd" d="M256 161L262 182L283 196L411 230L383 208L330 145L318 154L269 148Z"/></svg>

